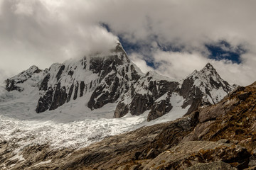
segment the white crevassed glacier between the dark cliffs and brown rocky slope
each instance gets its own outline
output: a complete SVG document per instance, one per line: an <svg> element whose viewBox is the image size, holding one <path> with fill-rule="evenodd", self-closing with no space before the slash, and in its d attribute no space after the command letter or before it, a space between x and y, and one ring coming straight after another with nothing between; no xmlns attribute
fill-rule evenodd
<svg viewBox="0 0 256 170"><path fill-rule="evenodd" d="M181 108L183 98L173 95L171 100L177 103L174 109L151 122L146 121L149 111L142 115L127 114L122 118L113 118L117 103L108 103L91 111L85 106L84 98L70 101L68 105L53 111L37 114L36 91L31 92L34 95L19 97L18 91L6 91L4 83L0 91L0 139L10 145L18 145L19 149L27 145L43 144L53 148L86 147L110 135L175 120L187 111Z"/></svg>

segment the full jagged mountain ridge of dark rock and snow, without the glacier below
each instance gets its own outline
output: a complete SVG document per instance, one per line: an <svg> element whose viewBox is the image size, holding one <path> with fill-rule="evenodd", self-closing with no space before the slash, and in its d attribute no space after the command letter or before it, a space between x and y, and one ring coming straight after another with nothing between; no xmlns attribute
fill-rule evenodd
<svg viewBox="0 0 256 170"><path fill-rule="evenodd" d="M182 81L156 72L143 74L119 43L107 54L55 63L44 71L32 66L6 80L7 91L38 91L36 113L82 98L90 110L115 103L115 118L147 111L148 121L169 113L174 106L189 114L198 107L218 103L233 89L209 63Z"/></svg>

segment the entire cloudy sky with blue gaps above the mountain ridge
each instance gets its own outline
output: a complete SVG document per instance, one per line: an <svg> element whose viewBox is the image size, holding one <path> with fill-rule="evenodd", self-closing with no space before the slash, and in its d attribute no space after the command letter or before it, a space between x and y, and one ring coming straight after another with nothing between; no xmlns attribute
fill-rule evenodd
<svg viewBox="0 0 256 170"><path fill-rule="evenodd" d="M256 1L0 0L0 79L124 43L143 72L256 81ZM224 42L224 43L223 43Z"/></svg>

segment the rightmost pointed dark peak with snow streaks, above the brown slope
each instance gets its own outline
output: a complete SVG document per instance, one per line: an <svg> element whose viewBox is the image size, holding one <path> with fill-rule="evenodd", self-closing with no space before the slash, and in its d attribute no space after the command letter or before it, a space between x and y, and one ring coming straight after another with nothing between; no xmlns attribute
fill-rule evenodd
<svg viewBox="0 0 256 170"><path fill-rule="evenodd" d="M221 101L235 86L221 79L213 66L208 63L200 71L195 70L181 84L180 94L186 100L183 108L190 106L187 115L198 107L210 106Z"/></svg>

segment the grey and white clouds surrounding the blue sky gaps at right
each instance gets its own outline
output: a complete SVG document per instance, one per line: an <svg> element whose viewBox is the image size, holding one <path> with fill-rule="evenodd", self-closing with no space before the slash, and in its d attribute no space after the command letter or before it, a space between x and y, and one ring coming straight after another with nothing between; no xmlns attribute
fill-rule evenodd
<svg viewBox="0 0 256 170"><path fill-rule="evenodd" d="M115 3L102 4L106 9L100 8L99 18L109 24L114 34L134 44L149 46L155 37L159 45L181 49L178 53L166 52L160 47L151 51L154 62L160 64L157 71L161 74L182 79L192 69L201 69L212 62L230 83L247 85L256 80L253 74L256 72L256 23L252 22L256 14L255 1L232 1L232 4L203 0L111 2ZM209 50L205 45L215 45L222 40L230 44L229 48L221 46L223 50L246 49L246 54L240 55L241 64L208 59Z"/></svg>

